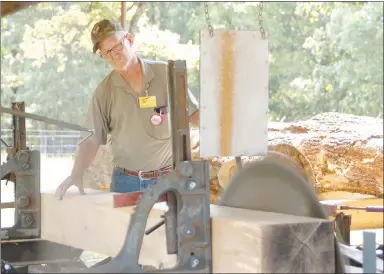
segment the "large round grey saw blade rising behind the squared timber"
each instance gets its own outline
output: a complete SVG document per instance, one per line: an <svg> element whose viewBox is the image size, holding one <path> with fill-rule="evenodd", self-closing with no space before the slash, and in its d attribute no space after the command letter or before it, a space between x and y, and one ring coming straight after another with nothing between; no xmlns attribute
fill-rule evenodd
<svg viewBox="0 0 384 274"><path fill-rule="evenodd" d="M240 169L217 204L328 219L304 172L292 160L279 153L270 154L262 161ZM336 273L346 273L345 263L335 241Z"/></svg>

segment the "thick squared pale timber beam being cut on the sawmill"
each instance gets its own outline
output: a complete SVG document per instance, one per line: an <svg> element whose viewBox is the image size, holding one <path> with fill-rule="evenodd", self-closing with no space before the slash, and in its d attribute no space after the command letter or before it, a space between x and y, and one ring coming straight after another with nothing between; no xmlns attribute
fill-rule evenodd
<svg viewBox="0 0 384 274"><path fill-rule="evenodd" d="M114 193L68 190L63 200L42 193L42 238L107 256L122 247L133 207L113 208ZM160 220L164 203L147 226ZM211 205L214 273L334 273L334 235L329 220ZM145 236L139 263L172 267L164 227ZM138 247L140 248L140 247Z"/></svg>

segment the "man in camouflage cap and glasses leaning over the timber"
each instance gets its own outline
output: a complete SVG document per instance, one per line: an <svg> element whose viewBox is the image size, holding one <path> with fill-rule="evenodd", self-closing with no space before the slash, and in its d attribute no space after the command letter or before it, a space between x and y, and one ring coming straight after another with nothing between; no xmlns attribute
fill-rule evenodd
<svg viewBox="0 0 384 274"><path fill-rule="evenodd" d="M167 114L167 63L139 58L132 35L116 22L102 20L92 29L93 53L100 52L113 70L99 84L88 111L94 135L83 142L71 175L57 188L62 199L75 185L84 193L83 176L100 145L111 135L113 174L110 191L144 190L172 170L172 144ZM190 123L198 124L198 103L188 92Z"/></svg>

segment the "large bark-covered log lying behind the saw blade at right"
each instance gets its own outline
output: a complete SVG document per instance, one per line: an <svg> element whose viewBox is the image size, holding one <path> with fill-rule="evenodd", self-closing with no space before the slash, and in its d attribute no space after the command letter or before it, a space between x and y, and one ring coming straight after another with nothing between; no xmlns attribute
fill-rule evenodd
<svg viewBox="0 0 384 274"><path fill-rule="evenodd" d="M321 193L383 197L383 119L323 113L297 123L270 123L269 145L281 143L308 158Z"/></svg>

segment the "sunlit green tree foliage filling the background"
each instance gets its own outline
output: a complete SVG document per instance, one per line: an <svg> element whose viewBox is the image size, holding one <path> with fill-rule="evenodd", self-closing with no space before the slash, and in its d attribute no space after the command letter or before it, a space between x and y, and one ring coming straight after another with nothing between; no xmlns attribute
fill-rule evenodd
<svg viewBox="0 0 384 274"><path fill-rule="evenodd" d="M188 86L198 97L199 31L207 27L203 3L127 7L140 56L187 60ZM209 4L215 29L258 30L258 15L257 2ZM43 2L2 18L2 105L23 100L27 111L81 123L110 71L92 54L91 28L119 16L120 2ZM326 111L382 117L382 22L380 2L265 3L270 119L293 121Z"/></svg>

